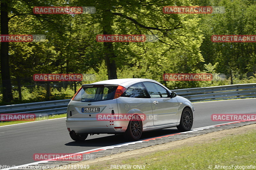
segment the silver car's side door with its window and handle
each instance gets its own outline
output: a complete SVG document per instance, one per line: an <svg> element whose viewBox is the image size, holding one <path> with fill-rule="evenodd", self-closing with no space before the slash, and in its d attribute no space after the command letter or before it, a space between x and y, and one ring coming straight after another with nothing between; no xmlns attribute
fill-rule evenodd
<svg viewBox="0 0 256 170"><path fill-rule="evenodd" d="M150 95L154 126L175 124L178 121L178 102L167 90L154 82L143 82Z"/></svg>

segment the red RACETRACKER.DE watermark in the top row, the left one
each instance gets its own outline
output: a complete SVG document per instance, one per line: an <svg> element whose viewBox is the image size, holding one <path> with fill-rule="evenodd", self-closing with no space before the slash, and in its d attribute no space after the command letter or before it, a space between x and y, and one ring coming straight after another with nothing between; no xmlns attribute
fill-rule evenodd
<svg viewBox="0 0 256 170"><path fill-rule="evenodd" d="M94 6L35 6L34 14L95 14Z"/></svg>

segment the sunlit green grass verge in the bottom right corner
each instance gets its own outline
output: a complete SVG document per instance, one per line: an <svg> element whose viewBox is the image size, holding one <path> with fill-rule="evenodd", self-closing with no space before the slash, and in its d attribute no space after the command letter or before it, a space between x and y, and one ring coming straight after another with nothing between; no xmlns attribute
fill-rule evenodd
<svg viewBox="0 0 256 170"><path fill-rule="evenodd" d="M134 151L136 152L136 150ZM256 166L256 132L225 137L210 143L184 146L182 148L140 155L132 159L124 159L119 165L145 165L145 169L231 169L219 166ZM107 161L101 165L90 165L90 169L110 169ZM211 168L209 168L211 167ZM114 169L113 166L111 169ZM122 168L120 168L122 169ZM233 167L233 169L235 169ZM237 169L243 169L237 168ZM248 169L248 168L247 168Z"/></svg>

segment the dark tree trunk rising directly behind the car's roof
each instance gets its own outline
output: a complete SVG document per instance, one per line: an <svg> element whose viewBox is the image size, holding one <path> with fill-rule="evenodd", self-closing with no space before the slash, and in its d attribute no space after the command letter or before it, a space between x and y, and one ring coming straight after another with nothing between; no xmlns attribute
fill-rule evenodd
<svg viewBox="0 0 256 170"><path fill-rule="evenodd" d="M103 28L103 34L112 34L112 29L111 29L111 23L112 23L112 18L113 15L109 10L105 10L104 15L102 16L102 28ZM114 53L114 47L112 42L104 42L104 56L105 56L105 64L108 69L108 79L117 79L116 75L116 62L115 58L116 55Z"/></svg>

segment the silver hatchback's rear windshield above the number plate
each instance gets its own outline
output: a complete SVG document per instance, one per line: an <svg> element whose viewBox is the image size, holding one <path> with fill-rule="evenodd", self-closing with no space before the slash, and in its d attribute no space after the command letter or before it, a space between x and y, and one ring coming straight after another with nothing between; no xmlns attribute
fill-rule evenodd
<svg viewBox="0 0 256 170"><path fill-rule="evenodd" d="M117 86L84 87L76 95L76 102L98 102L114 99Z"/></svg>

